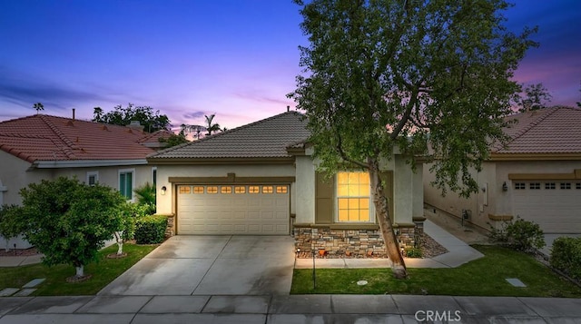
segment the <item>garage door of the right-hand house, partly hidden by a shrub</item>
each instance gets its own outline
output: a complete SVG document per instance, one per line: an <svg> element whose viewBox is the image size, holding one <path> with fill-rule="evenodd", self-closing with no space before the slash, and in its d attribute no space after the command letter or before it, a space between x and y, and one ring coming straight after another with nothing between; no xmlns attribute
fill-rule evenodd
<svg viewBox="0 0 581 324"><path fill-rule="evenodd" d="M581 233L581 182L514 182L514 214L545 233Z"/></svg>

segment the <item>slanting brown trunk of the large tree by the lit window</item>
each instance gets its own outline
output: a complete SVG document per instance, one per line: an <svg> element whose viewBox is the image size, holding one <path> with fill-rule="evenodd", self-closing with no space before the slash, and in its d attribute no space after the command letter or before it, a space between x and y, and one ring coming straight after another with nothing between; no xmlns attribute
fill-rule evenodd
<svg viewBox="0 0 581 324"><path fill-rule="evenodd" d="M389 260L391 260L391 271L395 278L405 279L408 277L408 270L406 270L406 264L399 251L398 239L391 226L388 199L385 196L385 191L383 191L383 183L381 183L381 179L379 178L379 161L376 158L368 158L368 164L371 194L373 196L373 204L375 205L375 216L379 222L379 230L385 243L386 252L388 253Z"/></svg>

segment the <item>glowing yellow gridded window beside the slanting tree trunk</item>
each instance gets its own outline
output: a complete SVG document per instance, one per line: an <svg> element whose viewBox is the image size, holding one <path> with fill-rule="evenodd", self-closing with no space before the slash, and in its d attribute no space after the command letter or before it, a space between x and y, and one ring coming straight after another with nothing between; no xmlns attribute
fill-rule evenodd
<svg viewBox="0 0 581 324"><path fill-rule="evenodd" d="M337 173L339 221L369 221L369 173Z"/></svg>

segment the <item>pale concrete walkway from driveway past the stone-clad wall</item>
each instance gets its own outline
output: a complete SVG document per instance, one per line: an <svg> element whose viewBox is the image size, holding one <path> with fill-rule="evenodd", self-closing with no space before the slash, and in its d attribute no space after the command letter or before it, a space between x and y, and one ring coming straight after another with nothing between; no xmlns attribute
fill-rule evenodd
<svg viewBox="0 0 581 324"><path fill-rule="evenodd" d="M471 248L464 241L458 240L432 221L424 222L424 231L432 239L442 245L448 253L434 258L416 259L404 258L408 268L456 268L471 260L477 260L484 255ZM315 259L317 268L389 268L388 259ZM297 259L295 269L312 269L312 259Z"/></svg>

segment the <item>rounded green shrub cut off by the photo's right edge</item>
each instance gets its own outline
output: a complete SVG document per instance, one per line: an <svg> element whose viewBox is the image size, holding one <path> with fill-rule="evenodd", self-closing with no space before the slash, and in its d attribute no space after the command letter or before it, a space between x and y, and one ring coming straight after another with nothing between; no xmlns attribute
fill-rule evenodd
<svg viewBox="0 0 581 324"><path fill-rule="evenodd" d="M549 261L553 268L581 280L581 238L557 238L553 242Z"/></svg>

